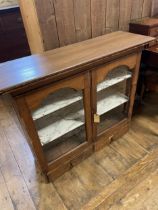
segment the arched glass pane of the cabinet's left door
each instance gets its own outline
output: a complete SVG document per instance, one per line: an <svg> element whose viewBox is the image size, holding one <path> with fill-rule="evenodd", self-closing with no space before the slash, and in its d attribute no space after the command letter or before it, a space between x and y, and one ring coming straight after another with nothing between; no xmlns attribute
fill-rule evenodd
<svg viewBox="0 0 158 210"><path fill-rule="evenodd" d="M82 91L66 88L49 95L32 113L48 161L86 141Z"/></svg>

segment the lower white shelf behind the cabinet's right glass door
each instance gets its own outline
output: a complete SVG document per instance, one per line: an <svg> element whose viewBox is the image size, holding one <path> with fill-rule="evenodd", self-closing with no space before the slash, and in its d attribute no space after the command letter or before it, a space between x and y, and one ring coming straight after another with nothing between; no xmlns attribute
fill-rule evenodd
<svg viewBox="0 0 158 210"><path fill-rule="evenodd" d="M102 115L128 101L128 97L114 90L104 90L98 93L97 114Z"/></svg>

